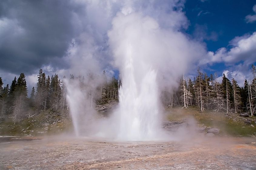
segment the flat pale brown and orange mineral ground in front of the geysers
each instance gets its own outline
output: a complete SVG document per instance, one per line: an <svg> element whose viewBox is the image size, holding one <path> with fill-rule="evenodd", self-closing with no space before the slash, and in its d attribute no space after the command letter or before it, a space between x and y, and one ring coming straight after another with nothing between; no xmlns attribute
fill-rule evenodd
<svg viewBox="0 0 256 170"><path fill-rule="evenodd" d="M255 169L255 142L224 137L189 142L2 142L0 169Z"/></svg>

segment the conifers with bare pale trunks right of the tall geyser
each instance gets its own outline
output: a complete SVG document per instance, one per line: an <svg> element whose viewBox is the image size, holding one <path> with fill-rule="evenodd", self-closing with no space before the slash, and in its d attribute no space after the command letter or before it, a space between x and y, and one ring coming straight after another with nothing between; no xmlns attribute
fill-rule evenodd
<svg viewBox="0 0 256 170"><path fill-rule="evenodd" d="M222 81L218 82L218 75L208 76L198 68L197 76L192 81L184 76L181 79L179 90L169 95L168 107L181 105L184 108L198 106L201 111L233 112L255 114L256 108L256 69L251 66L253 80L244 80L244 87L239 87L233 78L231 81L223 74ZM177 95L178 93L178 95Z"/></svg>

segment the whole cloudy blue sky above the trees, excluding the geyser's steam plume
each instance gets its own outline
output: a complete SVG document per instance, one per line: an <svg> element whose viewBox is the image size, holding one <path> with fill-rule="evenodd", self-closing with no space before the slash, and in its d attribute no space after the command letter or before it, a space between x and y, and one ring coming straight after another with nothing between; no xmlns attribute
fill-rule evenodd
<svg viewBox="0 0 256 170"><path fill-rule="evenodd" d="M198 52L201 58L193 58L197 65L188 77L193 78L199 66L207 74L216 72L219 80L225 73L241 86L245 78L252 79L250 67L256 64L256 1L252 0L1 1L0 77L6 85L24 72L31 90L40 68L59 77L85 68L117 75L108 31L127 5L155 19L161 28L181 31L203 48ZM90 60L84 54L96 57Z"/></svg>

